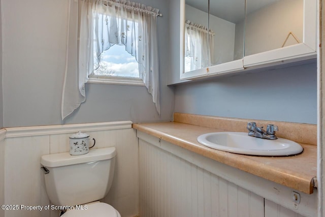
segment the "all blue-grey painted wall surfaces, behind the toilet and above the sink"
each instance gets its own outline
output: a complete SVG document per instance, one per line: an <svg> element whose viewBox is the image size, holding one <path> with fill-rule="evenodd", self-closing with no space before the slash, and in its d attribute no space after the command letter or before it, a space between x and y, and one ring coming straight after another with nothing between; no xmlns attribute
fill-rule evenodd
<svg viewBox="0 0 325 217"><path fill-rule="evenodd" d="M158 17L160 117L144 87L88 84L86 102L62 122L68 1L12 0L1 5L0 127L169 121L174 111L316 123L316 63L175 85L180 83L179 1L137 2L163 13Z"/></svg>

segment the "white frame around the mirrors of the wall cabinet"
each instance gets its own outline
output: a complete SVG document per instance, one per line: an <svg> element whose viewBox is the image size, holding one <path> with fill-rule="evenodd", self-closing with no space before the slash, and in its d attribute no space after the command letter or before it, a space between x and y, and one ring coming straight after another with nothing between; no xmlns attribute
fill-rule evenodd
<svg viewBox="0 0 325 217"><path fill-rule="evenodd" d="M180 80L228 75L244 71L247 68L262 68L316 58L317 2L318 0L304 0L303 43L244 56L239 60L184 73L185 0L180 0Z"/></svg>

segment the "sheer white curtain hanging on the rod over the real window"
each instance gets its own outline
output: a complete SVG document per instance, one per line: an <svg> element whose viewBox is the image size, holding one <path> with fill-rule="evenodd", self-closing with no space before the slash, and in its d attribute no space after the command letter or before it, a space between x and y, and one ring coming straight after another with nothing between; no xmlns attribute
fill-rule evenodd
<svg viewBox="0 0 325 217"><path fill-rule="evenodd" d="M70 0L69 12L62 120L85 101L88 76L99 67L102 52L114 44L125 45L126 51L135 56L140 78L160 115L158 10L124 0ZM76 13L78 16L74 16Z"/></svg>

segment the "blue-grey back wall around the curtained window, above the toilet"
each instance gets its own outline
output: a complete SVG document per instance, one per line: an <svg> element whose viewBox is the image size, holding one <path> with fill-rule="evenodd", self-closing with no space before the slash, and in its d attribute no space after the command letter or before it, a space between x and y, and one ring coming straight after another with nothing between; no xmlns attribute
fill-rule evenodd
<svg viewBox="0 0 325 217"><path fill-rule="evenodd" d="M157 18L160 117L145 87L88 84L86 102L62 122L69 1L11 0L2 1L4 126L172 120L174 87L166 85L171 53L168 0L136 2L158 8L164 15Z"/></svg>

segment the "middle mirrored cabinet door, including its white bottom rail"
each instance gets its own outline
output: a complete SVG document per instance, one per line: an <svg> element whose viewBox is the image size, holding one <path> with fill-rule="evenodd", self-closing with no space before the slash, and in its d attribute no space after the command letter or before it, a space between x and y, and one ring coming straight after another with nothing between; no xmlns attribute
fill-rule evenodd
<svg viewBox="0 0 325 217"><path fill-rule="evenodd" d="M209 75L243 70L245 0L209 1L211 64Z"/></svg>

